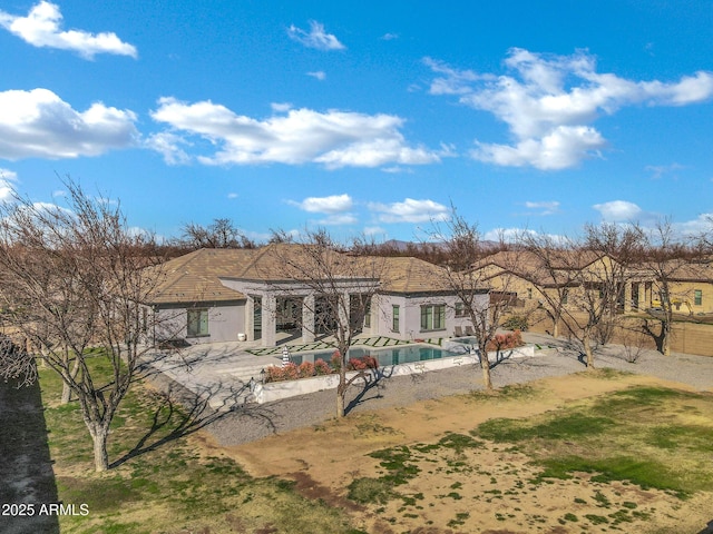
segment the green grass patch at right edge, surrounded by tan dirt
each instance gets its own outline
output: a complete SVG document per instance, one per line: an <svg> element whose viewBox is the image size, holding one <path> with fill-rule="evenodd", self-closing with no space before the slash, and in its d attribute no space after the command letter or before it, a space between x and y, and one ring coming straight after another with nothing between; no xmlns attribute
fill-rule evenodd
<svg viewBox="0 0 713 534"><path fill-rule="evenodd" d="M490 419L471 435L529 455L543 469L533 483L584 472L685 498L713 491L713 417L701 414L713 414L713 395L631 387L538 417Z"/></svg>

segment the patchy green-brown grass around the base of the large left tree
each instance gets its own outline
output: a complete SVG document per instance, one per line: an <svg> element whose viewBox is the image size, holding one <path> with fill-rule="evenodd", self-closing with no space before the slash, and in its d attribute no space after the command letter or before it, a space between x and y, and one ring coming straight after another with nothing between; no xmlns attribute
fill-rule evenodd
<svg viewBox="0 0 713 534"><path fill-rule="evenodd" d="M105 358L90 365L97 383L108 380ZM61 383L50 370L40 369L40 380L58 500L89 508L59 517L61 532L358 532L343 510L303 497L294 483L254 478L231 458L202 453L182 432L187 413L141 383L111 425L109 462L121 462L97 474L78 403L58 404Z"/></svg>

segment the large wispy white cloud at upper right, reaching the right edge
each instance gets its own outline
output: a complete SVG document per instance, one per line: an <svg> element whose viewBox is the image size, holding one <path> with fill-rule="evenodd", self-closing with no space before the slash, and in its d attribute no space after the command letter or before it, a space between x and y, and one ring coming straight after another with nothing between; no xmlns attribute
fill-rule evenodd
<svg viewBox="0 0 713 534"><path fill-rule="evenodd" d="M597 72L595 58L586 51L554 56L515 48L505 60L509 72L502 76L423 61L437 75L432 95L457 96L508 126L511 145L476 141L471 151L475 159L501 166L569 168L606 147L590 126L602 113L633 105L685 106L713 96L713 72L673 82L633 81Z"/></svg>

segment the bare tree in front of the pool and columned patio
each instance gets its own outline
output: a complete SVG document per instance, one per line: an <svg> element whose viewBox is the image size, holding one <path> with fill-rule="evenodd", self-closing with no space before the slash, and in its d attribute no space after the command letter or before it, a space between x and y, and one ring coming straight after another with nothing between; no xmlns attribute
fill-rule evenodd
<svg viewBox="0 0 713 534"><path fill-rule="evenodd" d="M339 355L336 416L343 417L346 390L361 377L346 379L348 350L371 313L384 261L343 254L322 229L305 231L300 243L272 247L282 278L273 283L275 289L300 298L304 313L296 318L299 326L313 336L324 336Z"/></svg>

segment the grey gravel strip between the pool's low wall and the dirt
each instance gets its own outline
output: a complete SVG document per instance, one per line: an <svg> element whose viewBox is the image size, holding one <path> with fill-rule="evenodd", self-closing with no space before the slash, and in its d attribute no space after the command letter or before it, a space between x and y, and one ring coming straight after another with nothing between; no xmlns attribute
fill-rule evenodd
<svg viewBox="0 0 713 534"><path fill-rule="evenodd" d="M561 342L538 335L527 335L526 340L557 348L537 350L533 358L497 364L491 369L496 387L585 370L579 355ZM666 358L653 350L643 352L636 363L628 363L625 357L623 347L607 347L596 354L595 365L680 382L700 390L713 389L711 357L674 354ZM348 409L355 413L406 406L417 400L480 389L480 369L472 365L382 379L365 390L352 386L348 394ZM325 390L265 405L247 405L227 413L211 413L202 426L221 445L238 445L333 417L334 395L334 390Z"/></svg>

